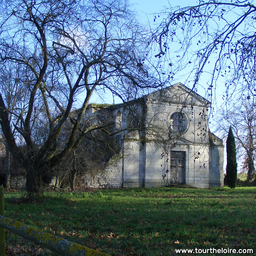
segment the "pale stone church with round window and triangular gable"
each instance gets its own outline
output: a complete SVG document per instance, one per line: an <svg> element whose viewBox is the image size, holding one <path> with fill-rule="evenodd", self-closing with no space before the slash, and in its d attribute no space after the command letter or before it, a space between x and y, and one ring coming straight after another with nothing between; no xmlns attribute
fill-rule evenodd
<svg viewBox="0 0 256 256"><path fill-rule="evenodd" d="M102 107L103 108L103 107ZM102 110L90 105L88 114ZM132 102L104 106L120 154L87 175L88 187L223 186L223 142L208 128L210 102L181 83Z"/></svg>

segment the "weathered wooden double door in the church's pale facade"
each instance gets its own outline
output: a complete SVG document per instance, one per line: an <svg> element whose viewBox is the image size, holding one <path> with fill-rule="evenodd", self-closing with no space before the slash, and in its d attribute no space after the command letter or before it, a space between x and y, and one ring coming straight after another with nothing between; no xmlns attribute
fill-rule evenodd
<svg viewBox="0 0 256 256"><path fill-rule="evenodd" d="M170 184L185 184L185 152L170 153Z"/></svg>

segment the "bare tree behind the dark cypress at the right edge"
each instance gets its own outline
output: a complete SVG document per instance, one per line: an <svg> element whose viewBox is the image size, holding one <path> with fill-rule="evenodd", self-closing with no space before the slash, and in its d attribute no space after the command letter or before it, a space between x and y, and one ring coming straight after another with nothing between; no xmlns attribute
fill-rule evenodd
<svg viewBox="0 0 256 256"><path fill-rule="evenodd" d="M234 137L238 143L237 150L244 160L247 169L247 182L255 177L255 152L256 152L256 112L253 96L242 96L239 102L229 104L228 109L223 109L218 120L217 130L227 136L229 127L232 126Z"/></svg>

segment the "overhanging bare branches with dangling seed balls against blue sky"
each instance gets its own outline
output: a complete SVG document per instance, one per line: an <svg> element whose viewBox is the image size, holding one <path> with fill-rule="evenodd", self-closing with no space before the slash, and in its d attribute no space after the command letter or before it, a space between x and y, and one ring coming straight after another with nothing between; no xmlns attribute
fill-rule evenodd
<svg viewBox="0 0 256 256"><path fill-rule="evenodd" d="M184 8L167 8L156 31L160 51L172 68L171 78L188 72L193 88L200 78L209 97L225 83L224 98L234 93L256 94L256 6L248 0L202 1ZM155 16L154 21L159 18ZM169 78L170 78L169 76ZM204 76L205 81L205 76Z"/></svg>

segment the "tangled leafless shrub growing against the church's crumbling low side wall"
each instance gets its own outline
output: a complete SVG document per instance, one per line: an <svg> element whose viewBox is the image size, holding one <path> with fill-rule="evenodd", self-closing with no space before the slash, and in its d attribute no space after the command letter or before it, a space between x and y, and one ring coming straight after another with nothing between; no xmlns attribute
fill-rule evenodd
<svg viewBox="0 0 256 256"><path fill-rule="evenodd" d="M113 136L102 130L87 134L78 148L56 166L56 186L73 191L80 186L79 178L103 171L110 158L119 152L120 145Z"/></svg>

